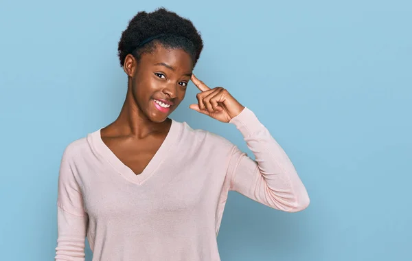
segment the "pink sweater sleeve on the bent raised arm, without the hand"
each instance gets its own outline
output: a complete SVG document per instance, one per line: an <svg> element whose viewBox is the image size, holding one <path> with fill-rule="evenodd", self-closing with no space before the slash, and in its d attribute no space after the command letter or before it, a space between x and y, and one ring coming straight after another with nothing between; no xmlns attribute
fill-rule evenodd
<svg viewBox="0 0 412 261"><path fill-rule="evenodd" d="M284 212L309 205L309 196L293 163L255 114L245 108L231 122L242 133L255 160L233 148L227 177L230 190Z"/></svg>

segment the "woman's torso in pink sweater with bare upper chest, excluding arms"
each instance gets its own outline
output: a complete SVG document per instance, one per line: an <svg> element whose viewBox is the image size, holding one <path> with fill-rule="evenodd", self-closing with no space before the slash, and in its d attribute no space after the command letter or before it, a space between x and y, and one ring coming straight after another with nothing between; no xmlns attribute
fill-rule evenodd
<svg viewBox="0 0 412 261"><path fill-rule="evenodd" d="M220 260L233 144L181 123L139 139L116 133L70 149L93 260Z"/></svg>

